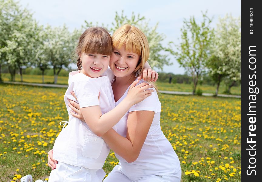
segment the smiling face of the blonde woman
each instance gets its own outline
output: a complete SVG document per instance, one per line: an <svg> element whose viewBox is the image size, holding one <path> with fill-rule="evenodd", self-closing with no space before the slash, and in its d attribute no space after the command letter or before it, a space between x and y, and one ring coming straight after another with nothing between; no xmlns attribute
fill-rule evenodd
<svg viewBox="0 0 262 182"><path fill-rule="evenodd" d="M127 52L126 47L113 48L109 66L116 77L130 76L136 69L139 55L134 52Z"/></svg>

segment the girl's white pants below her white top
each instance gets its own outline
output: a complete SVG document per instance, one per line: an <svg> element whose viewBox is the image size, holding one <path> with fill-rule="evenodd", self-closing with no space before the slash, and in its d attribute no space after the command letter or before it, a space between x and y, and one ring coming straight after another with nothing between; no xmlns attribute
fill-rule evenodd
<svg viewBox="0 0 262 182"><path fill-rule="evenodd" d="M58 161L49 176L49 182L101 182L106 173L102 169L87 169Z"/></svg>

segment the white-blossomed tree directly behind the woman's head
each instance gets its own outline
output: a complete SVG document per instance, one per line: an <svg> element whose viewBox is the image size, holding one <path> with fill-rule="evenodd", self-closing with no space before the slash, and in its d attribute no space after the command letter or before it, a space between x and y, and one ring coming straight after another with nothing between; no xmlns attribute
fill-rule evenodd
<svg viewBox="0 0 262 182"><path fill-rule="evenodd" d="M86 22L86 26L84 28L94 26L92 22ZM147 37L147 40L149 42L150 47L150 53L149 53L149 59L148 62L152 68L159 68L163 70L164 65L171 65L170 59L168 58L168 55L166 54L169 52L169 49L164 47L162 45L162 41L166 38L164 34L160 34L157 32L158 23L150 27L149 21L146 20L144 16L140 17L138 14L137 16L132 12L131 18L129 19L126 15L124 15L124 11L122 11L121 15L119 15L116 12L116 16L114 21L112 22L112 25L104 25L102 23L102 26L107 27L107 29L113 33L115 32L120 26L124 24L130 24L133 26L136 26L141 31L144 32L144 34ZM98 25L98 22L96 23L96 26Z"/></svg>

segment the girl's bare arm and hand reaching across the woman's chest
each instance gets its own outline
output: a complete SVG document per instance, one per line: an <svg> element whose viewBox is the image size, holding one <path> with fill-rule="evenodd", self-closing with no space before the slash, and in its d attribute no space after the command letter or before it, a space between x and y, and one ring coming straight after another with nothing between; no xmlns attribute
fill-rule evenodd
<svg viewBox="0 0 262 182"><path fill-rule="evenodd" d="M126 114L131 106L151 95L153 89L149 88L153 86L148 83L140 83L136 86L137 83L138 80L131 84L126 98L118 106L103 115L99 105L80 108L86 124L93 133L102 136Z"/></svg>

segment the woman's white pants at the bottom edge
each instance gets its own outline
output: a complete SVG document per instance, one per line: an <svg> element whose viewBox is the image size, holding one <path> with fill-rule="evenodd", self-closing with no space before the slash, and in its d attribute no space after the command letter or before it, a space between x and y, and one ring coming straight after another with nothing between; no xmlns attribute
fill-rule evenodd
<svg viewBox="0 0 262 182"><path fill-rule="evenodd" d="M132 181L123 173L121 166L116 165L103 182L180 182L180 180L181 170L177 174L149 176Z"/></svg>

